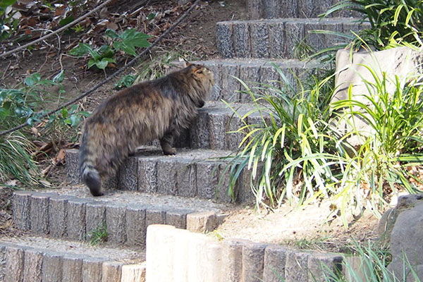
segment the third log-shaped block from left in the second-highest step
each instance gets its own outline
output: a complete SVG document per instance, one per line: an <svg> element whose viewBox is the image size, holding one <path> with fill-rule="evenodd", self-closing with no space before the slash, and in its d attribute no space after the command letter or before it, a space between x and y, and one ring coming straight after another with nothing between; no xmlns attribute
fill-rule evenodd
<svg viewBox="0 0 423 282"><path fill-rule="evenodd" d="M269 58L269 32L267 23L255 21L250 25L251 56Z"/></svg>

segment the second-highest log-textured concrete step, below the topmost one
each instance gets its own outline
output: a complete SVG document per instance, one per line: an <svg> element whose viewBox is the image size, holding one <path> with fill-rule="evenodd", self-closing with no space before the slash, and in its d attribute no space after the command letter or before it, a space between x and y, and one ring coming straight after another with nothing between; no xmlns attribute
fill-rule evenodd
<svg viewBox="0 0 423 282"><path fill-rule="evenodd" d="M216 25L216 44L223 58L294 58L306 45L318 51L347 42L343 37L311 33L329 30L352 35L362 30L357 18L281 18L224 21ZM301 48L301 47L299 47Z"/></svg>

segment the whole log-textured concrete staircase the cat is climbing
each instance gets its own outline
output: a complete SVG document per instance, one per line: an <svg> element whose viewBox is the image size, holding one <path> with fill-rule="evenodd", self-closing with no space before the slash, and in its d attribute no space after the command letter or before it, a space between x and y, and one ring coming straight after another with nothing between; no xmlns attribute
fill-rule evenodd
<svg viewBox="0 0 423 282"><path fill-rule="evenodd" d="M145 281L143 262L148 226L167 224L189 231L212 231L228 211L254 202L250 171L243 171L231 193L226 191L230 178L225 170L226 161L220 157L238 149L243 138L228 131L255 124L262 117L252 114L241 121L221 100L231 102L242 116L252 109L252 98L240 91L242 85L233 76L252 85L258 82L280 87L283 82L278 82L281 79L272 63L281 68L292 85L309 71L319 70L318 62L295 59L294 47L305 42L321 49L340 42L327 35L309 34L309 30L360 29L353 18L322 21L315 18L331 3L331 0L246 0L250 15L257 19L218 23L216 45L221 59L198 62L214 71L218 87L200 109L190 130L176 140L179 147L176 156L163 156L157 143L140 148L108 181L111 190L104 197L94 198L80 185L78 150L70 149L66 151L66 169L75 188L16 192L13 221L30 235L1 238L0 281ZM88 245L90 232L103 224L108 235L106 245ZM235 245L237 255L225 257L226 261L233 259L228 265L236 266L227 269L231 281L259 281L263 277L265 281L278 281L276 273L286 281L307 281L309 264L314 269L317 262L339 267L336 256L319 259L321 254L242 240ZM230 254L235 254L233 245L228 246ZM147 246L152 253L154 247ZM183 259L180 254L178 257ZM237 263L238 259L245 263ZM147 264L152 269L161 269L161 259ZM225 282L223 277L228 276L201 281ZM159 280L152 278L148 282Z"/></svg>

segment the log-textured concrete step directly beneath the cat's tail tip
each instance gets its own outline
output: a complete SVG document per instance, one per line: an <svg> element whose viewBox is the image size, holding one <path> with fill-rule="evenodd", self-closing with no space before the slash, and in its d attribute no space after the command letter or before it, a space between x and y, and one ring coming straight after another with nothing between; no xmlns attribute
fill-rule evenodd
<svg viewBox="0 0 423 282"><path fill-rule="evenodd" d="M186 228L198 212L210 212L216 219L227 209L225 204L207 200L128 191L94 198L85 188L13 195L13 223L20 230L83 241L90 240L92 231L106 228L109 245L130 247L145 247L150 224Z"/></svg>

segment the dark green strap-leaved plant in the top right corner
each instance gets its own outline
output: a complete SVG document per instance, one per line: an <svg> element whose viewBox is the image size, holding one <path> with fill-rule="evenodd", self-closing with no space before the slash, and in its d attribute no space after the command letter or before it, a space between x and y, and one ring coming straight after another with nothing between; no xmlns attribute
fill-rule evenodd
<svg viewBox="0 0 423 282"><path fill-rule="evenodd" d="M345 0L338 2L321 16L343 9L361 13L363 21L368 21L371 25L353 40L356 48L362 45L361 39L376 49L396 47L398 44L422 46L422 1Z"/></svg>

